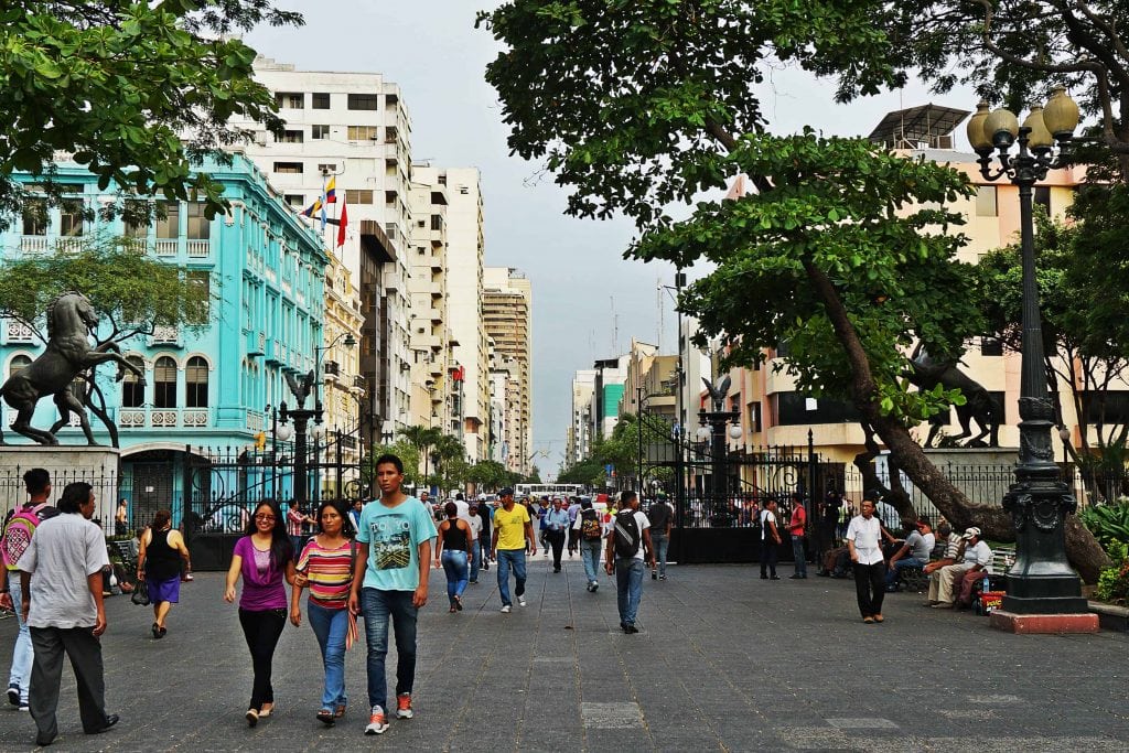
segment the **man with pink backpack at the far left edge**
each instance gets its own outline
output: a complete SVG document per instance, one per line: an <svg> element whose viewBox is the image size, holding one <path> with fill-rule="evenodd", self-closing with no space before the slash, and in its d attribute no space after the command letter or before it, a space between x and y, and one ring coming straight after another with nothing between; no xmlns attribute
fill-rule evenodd
<svg viewBox="0 0 1129 753"><path fill-rule="evenodd" d="M32 684L35 651L32 648L32 633L24 622L24 592L16 562L27 550L40 523L59 513L47 505L51 474L45 470L32 469L25 473L24 487L27 489L28 500L8 518L3 537L0 537L0 553L3 555L3 568L0 568L0 606L12 610L19 624L19 634L11 653L11 673L8 675L8 702L20 711L28 709L27 693Z"/></svg>

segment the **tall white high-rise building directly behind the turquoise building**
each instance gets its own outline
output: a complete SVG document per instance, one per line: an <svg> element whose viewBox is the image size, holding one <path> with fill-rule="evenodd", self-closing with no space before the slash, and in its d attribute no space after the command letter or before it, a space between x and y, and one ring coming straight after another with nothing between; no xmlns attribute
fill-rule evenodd
<svg viewBox="0 0 1129 753"><path fill-rule="evenodd" d="M338 252L358 287L365 323L360 371L369 415L366 429L379 441L408 426L411 417L408 238L411 225L411 120L400 87L379 73L299 71L260 58L255 78L274 93L287 122L277 139L253 123L247 155L301 211L335 184L327 203L326 245L336 246L342 200L348 207L343 247ZM315 213L314 222L320 222Z"/></svg>

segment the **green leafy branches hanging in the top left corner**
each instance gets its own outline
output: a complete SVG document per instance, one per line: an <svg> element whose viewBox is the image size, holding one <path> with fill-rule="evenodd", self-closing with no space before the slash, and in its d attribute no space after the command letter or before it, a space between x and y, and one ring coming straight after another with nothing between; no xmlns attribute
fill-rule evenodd
<svg viewBox="0 0 1129 753"><path fill-rule="evenodd" d="M233 117L280 133L270 90L253 78L255 51L233 33L260 23L300 25L268 0L6 3L0 10L0 229L24 205L16 170L61 201L54 152L70 152L99 187L187 200L209 218L227 209L222 186L194 173L204 155L250 134ZM182 141L183 139L183 141ZM230 159L230 157L227 157ZM123 207L108 205L107 213ZM132 207L151 211L151 203Z"/></svg>

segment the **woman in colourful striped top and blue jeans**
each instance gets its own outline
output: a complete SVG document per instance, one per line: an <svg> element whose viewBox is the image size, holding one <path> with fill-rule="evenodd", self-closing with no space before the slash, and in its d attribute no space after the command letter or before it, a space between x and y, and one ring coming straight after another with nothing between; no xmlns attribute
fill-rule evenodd
<svg viewBox="0 0 1129 753"><path fill-rule="evenodd" d="M301 590L309 588L307 614L317 636L325 665L325 690L317 719L332 725L344 716L345 704L345 636L349 632L349 586L356 561L355 533L348 523L344 506L325 501L317 509L321 533L313 536L298 558L299 577L290 599L290 622L301 624Z"/></svg>

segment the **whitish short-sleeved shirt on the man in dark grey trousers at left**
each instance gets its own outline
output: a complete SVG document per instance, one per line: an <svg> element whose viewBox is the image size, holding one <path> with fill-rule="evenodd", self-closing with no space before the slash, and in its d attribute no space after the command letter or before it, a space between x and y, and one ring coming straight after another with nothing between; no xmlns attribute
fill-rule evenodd
<svg viewBox="0 0 1129 753"><path fill-rule="evenodd" d="M17 563L32 573L32 628L93 628L98 606L87 581L110 564L106 540L99 528L77 513L49 518Z"/></svg>

